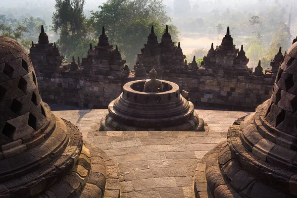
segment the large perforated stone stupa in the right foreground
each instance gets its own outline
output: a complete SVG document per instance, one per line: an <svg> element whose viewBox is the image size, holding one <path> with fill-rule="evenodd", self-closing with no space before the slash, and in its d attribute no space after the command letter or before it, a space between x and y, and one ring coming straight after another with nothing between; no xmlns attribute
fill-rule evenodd
<svg viewBox="0 0 297 198"><path fill-rule="evenodd" d="M296 74L297 43L285 54L271 98L236 120L227 142L201 159L197 197L206 184L215 198L297 197Z"/></svg>

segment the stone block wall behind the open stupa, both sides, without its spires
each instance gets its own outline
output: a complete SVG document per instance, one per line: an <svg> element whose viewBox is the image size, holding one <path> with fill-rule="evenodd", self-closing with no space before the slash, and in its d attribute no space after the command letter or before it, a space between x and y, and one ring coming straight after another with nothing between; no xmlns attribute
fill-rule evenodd
<svg viewBox="0 0 297 198"><path fill-rule="evenodd" d="M165 72L161 78L174 82L181 90L189 92L189 99L198 106L248 111L253 111L258 104L270 98L273 85L273 79L264 76L197 76L193 71L185 71L179 75ZM109 102L122 93L125 83L141 78L131 74L123 79L103 75L85 78L77 70L54 73L50 77L38 73L37 79L46 102L106 108Z"/></svg>

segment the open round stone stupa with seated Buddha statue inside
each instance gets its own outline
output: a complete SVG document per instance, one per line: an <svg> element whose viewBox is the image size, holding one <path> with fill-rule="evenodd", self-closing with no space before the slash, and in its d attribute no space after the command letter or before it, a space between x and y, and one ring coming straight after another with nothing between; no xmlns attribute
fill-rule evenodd
<svg viewBox="0 0 297 198"><path fill-rule="evenodd" d="M152 73L151 80L155 80L156 72ZM150 90L146 82L137 80L124 85L123 93L108 105L109 113L101 119L99 131L204 131L194 104L180 94L177 84L157 80L163 86L161 92L144 92Z"/></svg>

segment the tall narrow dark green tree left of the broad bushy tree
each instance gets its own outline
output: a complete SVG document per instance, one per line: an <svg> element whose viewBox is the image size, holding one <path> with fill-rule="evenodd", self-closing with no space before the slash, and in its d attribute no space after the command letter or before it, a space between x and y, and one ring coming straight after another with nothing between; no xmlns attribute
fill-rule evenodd
<svg viewBox="0 0 297 198"><path fill-rule="evenodd" d="M85 57L90 43L96 43L92 24L84 15L84 4L85 0L56 0L52 30L56 34L60 30L57 44L67 62L72 56Z"/></svg>

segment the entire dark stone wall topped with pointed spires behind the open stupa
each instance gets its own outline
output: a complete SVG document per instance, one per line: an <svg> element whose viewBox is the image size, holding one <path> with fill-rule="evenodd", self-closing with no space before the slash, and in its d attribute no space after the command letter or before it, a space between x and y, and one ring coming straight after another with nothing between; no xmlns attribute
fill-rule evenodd
<svg viewBox="0 0 297 198"><path fill-rule="evenodd" d="M135 72L124 66L125 60L117 46L108 43L104 27L99 43L90 45L87 57L72 63L62 63L58 48L49 43L46 34L41 34L38 44L30 50L36 68L40 92L46 102L89 108L106 108L121 93L129 81L148 79L148 72L155 68L157 78L174 82L180 90L189 92L189 99L196 106L211 106L234 110L253 111L269 99L278 66L283 59L281 49L271 62L271 69L263 73L259 62L253 72L247 68L248 58L241 46L236 49L229 28L222 44L214 49L213 44L201 66L184 61L181 44L175 46L166 27L161 43L153 32L141 49ZM226 61L231 61L227 64Z"/></svg>

